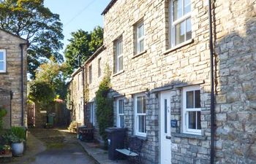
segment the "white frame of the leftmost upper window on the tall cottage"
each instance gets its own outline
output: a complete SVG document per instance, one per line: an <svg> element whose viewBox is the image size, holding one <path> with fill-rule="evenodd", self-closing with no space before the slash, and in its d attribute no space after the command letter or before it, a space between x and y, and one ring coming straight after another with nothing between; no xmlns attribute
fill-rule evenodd
<svg viewBox="0 0 256 164"><path fill-rule="evenodd" d="M121 50L118 51L118 44L121 44ZM123 40L122 38L119 38L116 40L115 42L115 49L116 49L116 52L115 52L115 60L116 60L116 63L115 63L115 73L118 73L119 71L123 71L124 70L124 58L123 58ZM118 52L120 52L120 54L118 54ZM123 63L120 63L120 58L123 58ZM122 65L122 69L120 68L120 66Z"/></svg>

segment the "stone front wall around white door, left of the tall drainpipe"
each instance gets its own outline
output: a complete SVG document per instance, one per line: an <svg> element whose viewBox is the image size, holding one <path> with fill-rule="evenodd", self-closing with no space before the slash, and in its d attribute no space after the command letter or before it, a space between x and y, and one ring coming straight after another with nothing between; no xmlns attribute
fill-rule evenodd
<svg viewBox="0 0 256 164"><path fill-rule="evenodd" d="M173 138L173 144L178 144L178 147L172 151L172 160L173 163L195 163L196 161L203 163L208 161L209 151L207 148L202 148L198 152L198 149L204 141L209 142L210 139L208 138L210 136L208 6L206 1L192 1L193 41L174 50L169 49L168 43L168 7L168 1L160 0L154 3L149 0L116 1L104 15L104 44L108 47L106 53L112 68L114 63L113 41L122 36L124 45L124 71L114 74L111 83L116 94L125 95L128 100L130 100L129 96L136 93L145 93L146 90L150 91L159 87L179 84L200 85L203 104L202 124L205 125L202 133L204 137L202 139L177 136L176 140ZM135 26L141 20L143 20L146 33L146 52L136 55ZM145 163L159 163L159 105L156 95L157 93L153 93L147 97L146 133L148 141L143 148ZM181 102L178 103L181 104ZM129 128L129 132L133 132L134 107L133 105L126 107L126 105L124 106L125 112L128 111L128 116L125 114L126 127ZM181 105L176 107L176 112L173 112L171 117L181 120ZM178 129L175 132L181 133L181 130ZM182 144L178 143L181 140ZM195 157L197 160L193 160Z"/></svg>

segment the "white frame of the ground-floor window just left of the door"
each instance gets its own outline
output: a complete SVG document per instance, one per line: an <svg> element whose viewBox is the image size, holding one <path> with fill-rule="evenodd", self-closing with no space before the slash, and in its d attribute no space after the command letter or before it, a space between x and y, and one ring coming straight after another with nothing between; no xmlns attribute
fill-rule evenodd
<svg viewBox="0 0 256 164"><path fill-rule="evenodd" d="M143 136L143 137L146 137L146 132L145 133L141 133L139 132L139 119L138 119L138 116L145 116L145 130L146 130L146 113L138 113L138 109L137 109L137 98L138 97L143 97L146 98L146 95L145 94L138 94L138 95L135 95L135 103L134 103L134 109L135 109L135 135L136 136Z"/></svg>

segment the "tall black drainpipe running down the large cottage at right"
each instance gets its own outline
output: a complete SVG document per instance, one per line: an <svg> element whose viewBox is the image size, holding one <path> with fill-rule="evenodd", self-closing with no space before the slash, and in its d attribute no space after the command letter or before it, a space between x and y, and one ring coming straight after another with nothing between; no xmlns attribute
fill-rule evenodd
<svg viewBox="0 0 256 164"><path fill-rule="evenodd" d="M211 61L211 164L214 164L214 44L212 38L211 0L208 0L209 48Z"/></svg>

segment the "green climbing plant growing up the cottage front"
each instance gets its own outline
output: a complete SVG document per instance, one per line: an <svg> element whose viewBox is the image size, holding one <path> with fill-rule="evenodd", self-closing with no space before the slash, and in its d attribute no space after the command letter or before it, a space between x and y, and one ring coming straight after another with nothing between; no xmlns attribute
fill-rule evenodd
<svg viewBox="0 0 256 164"><path fill-rule="evenodd" d="M108 98L108 93L110 91L110 69L107 66L105 71L105 77L103 77L102 82L99 84L99 90L96 93L96 116L97 122L99 124L99 134L105 141L105 146L107 146L107 133L105 128L113 127L113 98Z"/></svg>

